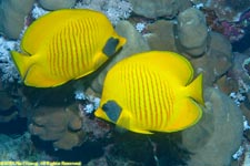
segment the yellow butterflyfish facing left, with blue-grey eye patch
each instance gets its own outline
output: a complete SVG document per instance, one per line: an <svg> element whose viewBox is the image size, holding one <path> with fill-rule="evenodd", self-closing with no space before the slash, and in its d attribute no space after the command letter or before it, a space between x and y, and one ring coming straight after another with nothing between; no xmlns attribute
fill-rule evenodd
<svg viewBox="0 0 250 166"><path fill-rule="evenodd" d="M142 134L176 132L202 115L202 74L174 52L127 58L108 72L97 117Z"/></svg>

